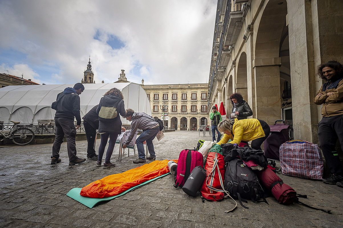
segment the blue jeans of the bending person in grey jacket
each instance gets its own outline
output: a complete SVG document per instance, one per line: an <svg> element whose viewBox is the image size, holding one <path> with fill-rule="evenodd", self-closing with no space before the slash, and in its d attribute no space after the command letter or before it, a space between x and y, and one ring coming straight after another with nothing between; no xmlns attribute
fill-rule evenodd
<svg viewBox="0 0 343 228"><path fill-rule="evenodd" d="M145 159L145 151L144 151L144 145L143 145L144 141L146 141L146 145L148 146L150 156L155 157L154 144L152 143L152 141L156 137L158 132L159 132L159 127L153 128L153 129L147 129L143 131L142 134L140 134L140 136L136 139L139 158Z"/></svg>

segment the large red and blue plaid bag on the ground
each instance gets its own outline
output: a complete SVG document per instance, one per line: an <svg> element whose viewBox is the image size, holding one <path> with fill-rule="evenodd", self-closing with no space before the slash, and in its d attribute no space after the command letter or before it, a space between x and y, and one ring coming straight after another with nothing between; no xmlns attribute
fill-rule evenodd
<svg viewBox="0 0 343 228"><path fill-rule="evenodd" d="M303 140L287 141L280 146L282 174L306 179L321 180L323 159L317 144Z"/></svg>

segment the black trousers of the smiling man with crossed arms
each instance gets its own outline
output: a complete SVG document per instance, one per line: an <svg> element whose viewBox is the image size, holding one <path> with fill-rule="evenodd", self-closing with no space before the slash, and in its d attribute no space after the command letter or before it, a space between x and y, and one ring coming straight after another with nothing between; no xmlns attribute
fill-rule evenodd
<svg viewBox="0 0 343 228"><path fill-rule="evenodd" d="M331 173L343 173L335 150L337 139L343 150L343 115L323 117L318 123L319 145Z"/></svg>

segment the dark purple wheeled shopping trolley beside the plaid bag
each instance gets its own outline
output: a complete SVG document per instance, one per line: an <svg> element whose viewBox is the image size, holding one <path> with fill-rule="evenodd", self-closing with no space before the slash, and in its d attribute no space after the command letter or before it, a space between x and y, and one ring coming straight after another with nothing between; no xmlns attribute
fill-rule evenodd
<svg viewBox="0 0 343 228"><path fill-rule="evenodd" d="M286 125L284 120L275 120L275 124L269 127L270 134L264 141L264 155L269 160L280 161L280 146L289 141L289 125Z"/></svg>

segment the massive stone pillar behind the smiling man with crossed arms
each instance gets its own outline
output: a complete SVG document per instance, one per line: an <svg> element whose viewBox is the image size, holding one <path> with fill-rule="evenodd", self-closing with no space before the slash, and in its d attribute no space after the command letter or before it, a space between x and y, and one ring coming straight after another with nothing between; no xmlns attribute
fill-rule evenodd
<svg viewBox="0 0 343 228"><path fill-rule="evenodd" d="M328 60L343 60L343 1L287 3L294 138L318 143L321 106L313 98L322 80L316 76L316 67Z"/></svg>

